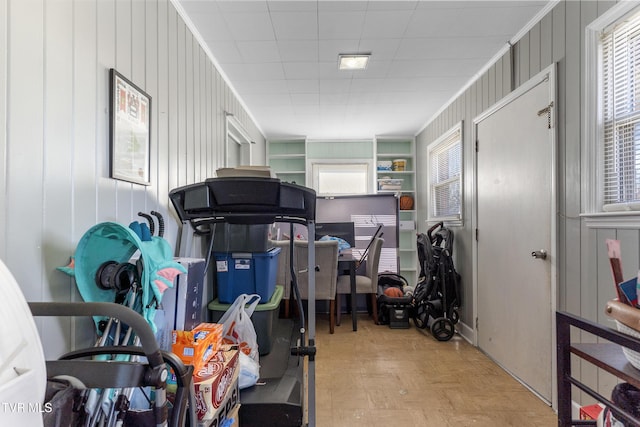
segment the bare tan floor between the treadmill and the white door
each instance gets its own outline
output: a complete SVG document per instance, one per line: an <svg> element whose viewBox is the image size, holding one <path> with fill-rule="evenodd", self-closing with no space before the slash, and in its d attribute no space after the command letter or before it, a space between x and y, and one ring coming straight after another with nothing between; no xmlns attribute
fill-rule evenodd
<svg viewBox="0 0 640 427"><path fill-rule="evenodd" d="M459 336L317 319L318 427L552 427L552 408Z"/></svg>

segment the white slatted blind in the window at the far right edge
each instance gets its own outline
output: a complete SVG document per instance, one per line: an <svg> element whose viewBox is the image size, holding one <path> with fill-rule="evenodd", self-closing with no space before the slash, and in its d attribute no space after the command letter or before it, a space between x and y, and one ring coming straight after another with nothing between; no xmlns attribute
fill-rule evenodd
<svg viewBox="0 0 640 427"><path fill-rule="evenodd" d="M640 14L602 34L604 204L640 201Z"/></svg>

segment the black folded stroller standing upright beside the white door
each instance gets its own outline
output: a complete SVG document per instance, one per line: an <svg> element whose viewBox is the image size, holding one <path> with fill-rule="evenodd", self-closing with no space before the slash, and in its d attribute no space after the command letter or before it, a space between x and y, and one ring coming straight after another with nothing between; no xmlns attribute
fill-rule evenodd
<svg viewBox="0 0 640 427"><path fill-rule="evenodd" d="M453 232L439 222L417 237L420 276L413 294L413 321L429 327L438 341L448 341L460 320L460 275L453 265Z"/></svg>

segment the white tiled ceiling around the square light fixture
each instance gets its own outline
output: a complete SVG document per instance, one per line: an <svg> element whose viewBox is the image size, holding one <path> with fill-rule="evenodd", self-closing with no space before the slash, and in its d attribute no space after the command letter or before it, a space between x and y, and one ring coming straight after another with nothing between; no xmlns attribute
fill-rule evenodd
<svg viewBox="0 0 640 427"><path fill-rule="evenodd" d="M265 136L326 138L416 132L546 4L175 1ZM363 51L367 70L338 71Z"/></svg>

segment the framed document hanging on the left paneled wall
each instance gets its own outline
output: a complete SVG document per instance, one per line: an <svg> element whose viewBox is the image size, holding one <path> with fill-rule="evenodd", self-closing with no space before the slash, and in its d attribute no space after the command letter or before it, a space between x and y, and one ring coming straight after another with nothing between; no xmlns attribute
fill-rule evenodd
<svg viewBox="0 0 640 427"><path fill-rule="evenodd" d="M149 185L151 97L115 69L109 76L110 176Z"/></svg>

